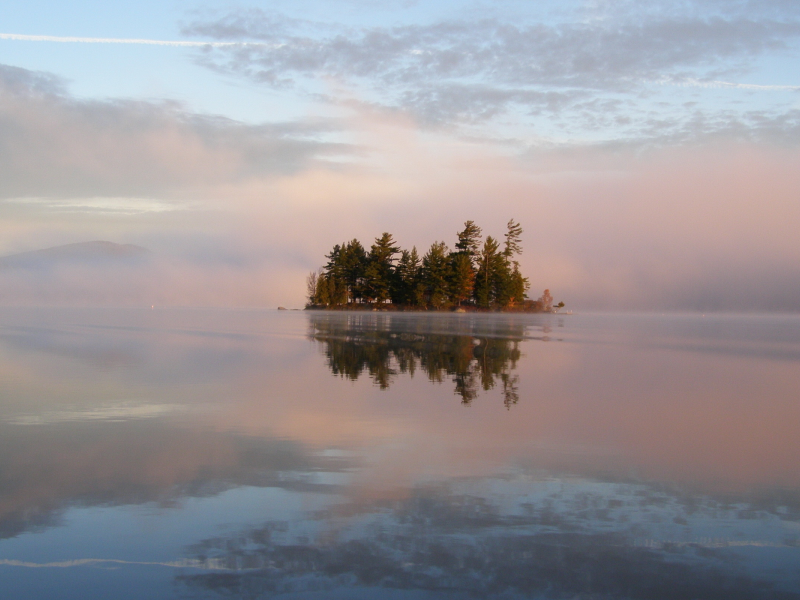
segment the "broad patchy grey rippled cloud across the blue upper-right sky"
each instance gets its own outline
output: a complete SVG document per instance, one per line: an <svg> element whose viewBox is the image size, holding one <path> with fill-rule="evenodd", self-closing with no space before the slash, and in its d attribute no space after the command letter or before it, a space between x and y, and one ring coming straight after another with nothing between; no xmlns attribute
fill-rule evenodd
<svg viewBox="0 0 800 600"><path fill-rule="evenodd" d="M560 139L630 139L659 103L672 105L660 111L670 127L691 120L676 97L712 117L741 112L745 93L762 94L747 97L746 109L776 116L796 102L787 95L800 86L760 81L758 66L797 52L800 19L783 3L760 12L749 3L727 12L717 2L592 6L557 21L500 14L360 28L249 9L195 20L183 33L271 44L204 50L199 62L217 71L300 94L344 82L426 125L502 118ZM754 73L755 82L733 80Z"/></svg>

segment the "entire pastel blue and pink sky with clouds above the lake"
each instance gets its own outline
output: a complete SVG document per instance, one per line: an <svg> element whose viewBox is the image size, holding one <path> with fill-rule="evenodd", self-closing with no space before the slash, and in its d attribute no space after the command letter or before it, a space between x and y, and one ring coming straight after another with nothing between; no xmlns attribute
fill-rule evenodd
<svg viewBox="0 0 800 600"><path fill-rule="evenodd" d="M302 306L336 244L524 228L576 310L800 310L796 0L0 7L0 303ZM36 277L39 277L38 275Z"/></svg>

